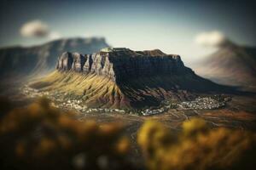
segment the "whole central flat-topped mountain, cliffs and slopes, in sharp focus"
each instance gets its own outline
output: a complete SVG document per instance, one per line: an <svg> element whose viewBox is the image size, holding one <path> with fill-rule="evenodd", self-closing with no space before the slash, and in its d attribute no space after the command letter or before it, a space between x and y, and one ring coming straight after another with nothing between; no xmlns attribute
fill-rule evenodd
<svg viewBox="0 0 256 170"><path fill-rule="evenodd" d="M97 107L142 108L160 105L164 99L189 99L193 92L230 90L195 75L179 55L160 50L113 48L96 54L64 53L56 69L30 86Z"/></svg>

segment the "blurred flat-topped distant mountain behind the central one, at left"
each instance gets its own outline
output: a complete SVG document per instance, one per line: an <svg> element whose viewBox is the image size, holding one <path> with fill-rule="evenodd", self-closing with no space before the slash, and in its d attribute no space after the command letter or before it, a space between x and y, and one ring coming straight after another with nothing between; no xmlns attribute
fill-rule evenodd
<svg viewBox="0 0 256 170"><path fill-rule="evenodd" d="M94 53L109 47L104 38L67 38L32 47L0 49L0 77L38 75L55 68L57 57L65 51Z"/></svg>

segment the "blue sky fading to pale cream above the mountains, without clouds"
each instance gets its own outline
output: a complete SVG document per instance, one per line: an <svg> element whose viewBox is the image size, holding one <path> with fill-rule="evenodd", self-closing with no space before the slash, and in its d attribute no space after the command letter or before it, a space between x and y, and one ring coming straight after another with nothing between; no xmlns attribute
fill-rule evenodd
<svg viewBox="0 0 256 170"><path fill-rule="evenodd" d="M212 52L196 35L220 31L239 44L256 45L255 6L246 1L15 1L2 0L0 47L31 46L49 37L24 37L20 28L44 22L60 37L105 37L114 47L160 48L186 60Z"/></svg>

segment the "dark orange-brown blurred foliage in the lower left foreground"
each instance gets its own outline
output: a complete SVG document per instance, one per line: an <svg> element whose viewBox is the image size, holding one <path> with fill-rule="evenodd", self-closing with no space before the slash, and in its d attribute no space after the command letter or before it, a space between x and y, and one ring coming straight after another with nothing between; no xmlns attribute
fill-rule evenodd
<svg viewBox="0 0 256 170"><path fill-rule="evenodd" d="M79 122L47 99L0 119L0 169L135 169L118 123Z"/></svg>

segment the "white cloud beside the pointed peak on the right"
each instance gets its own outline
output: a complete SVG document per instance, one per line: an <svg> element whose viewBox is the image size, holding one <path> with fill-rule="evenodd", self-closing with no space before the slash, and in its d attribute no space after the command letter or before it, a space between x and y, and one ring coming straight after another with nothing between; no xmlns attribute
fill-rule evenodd
<svg viewBox="0 0 256 170"><path fill-rule="evenodd" d="M218 47L227 41L223 33L219 31L202 32L195 37L195 42L208 47Z"/></svg>

